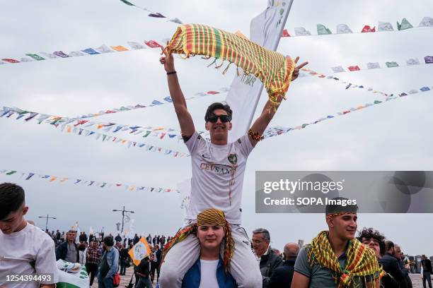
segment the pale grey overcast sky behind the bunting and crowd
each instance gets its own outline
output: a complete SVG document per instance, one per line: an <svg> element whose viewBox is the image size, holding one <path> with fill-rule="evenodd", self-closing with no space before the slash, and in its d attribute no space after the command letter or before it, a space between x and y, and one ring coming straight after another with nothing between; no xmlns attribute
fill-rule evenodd
<svg viewBox="0 0 433 288"><path fill-rule="evenodd" d="M184 23L202 23L249 35L250 19L261 13L267 1L144 1L135 4L180 18ZM171 37L177 24L149 18L145 11L118 0L93 1L0 1L0 58L20 59L26 53L71 52L101 44L124 45L128 41ZM316 34L316 24L335 32L345 23L353 31L364 25L407 18L417 27L423 17L433 17L433 2L411 1L313 1L295 0L286 28ZM429 15L430 13L430 15ZM352 35L283 38L278 51L309 61L308 68L331 74L330 67L366 66L366 62L397 61L400 68L339 73L337 76L383 92L407 92L432 88L433 66L405 66L405 60L433 56L433 29ZM0 106L35 112L78 116L122 105L148 104L168 95L166 75L158 63L158 49L54 59L0 66ZM217 90L231 84L235 69L226 75L208 62L175 59L183 92ZM206 107L222 101L225 94L187 102L197 130L204 128ZM271 126L298 126L328 114L342 112L385 97L365 89L345 90L334 80L306 77L291 85ZM258 105L261 111L266 95ZM258 170L432 170L433 93L424 92L386 102L359 112L336 117L301 131L259 143L248 158L243 186L243 226L248 234L258 227L270 230L272 246L281 249L289 241L310 241L325 229L323 215L255 214L255 171ZM98 117L100 121L141 126L178 128L171 104ZM94 137L62 133L47 124L0 119L1 169L50 174L99 182L136 186L176 187L191 175L189 158L173 158L125 145L101 143ZM177 140L123 137L187 152ZM50 184L25 181L0 174L0 182L12 181L25 188L30 207L28 219L45 227L40 215L54 215L50 229L69 229L76 221L89 227L115 232L120 214L112 209L134 210L139 234L174 234L183 223L180 195ZM433 255L428 215L359 215L359 228L374 227L402 246L405 253Z"/></svg>

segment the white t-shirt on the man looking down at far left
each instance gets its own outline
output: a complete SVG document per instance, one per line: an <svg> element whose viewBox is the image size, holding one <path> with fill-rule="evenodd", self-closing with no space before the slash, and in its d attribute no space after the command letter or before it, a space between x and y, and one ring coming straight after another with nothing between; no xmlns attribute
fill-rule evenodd
<svg viewBox="0 0 433 288"><path fill-rule="evenodd" d="M24 229L12 234L0 231L0 256L28 260L0 260L0 287L37 288L40 284L58 282L54 241L41 229L26 224ZM33 267L32 267L33 265ZM51 281L6 282L6 275L51 274Z"/></svg>

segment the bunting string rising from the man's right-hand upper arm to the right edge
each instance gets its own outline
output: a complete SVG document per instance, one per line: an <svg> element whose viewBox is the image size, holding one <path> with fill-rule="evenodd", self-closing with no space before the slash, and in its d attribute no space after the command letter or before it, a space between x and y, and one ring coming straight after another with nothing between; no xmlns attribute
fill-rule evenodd
<svg viewBox="0 0 433 288"><path fill-rule="evenodd" d="M386 100L384 102L388 102L388 101L391 101L391 100L396 100L396 99L399 99L400 97L405 97L405 96L408 96L408 95L414 95L414 94L417 94L419 92L427 92L427 91L432 91L432 90L433 90L433 86L431 86L431 87L423 86L422 88L412 89L412 90L409 90L408 92L400 92L397 95L391 94L391 95L389 95L389 97L386 98ZM301 129L306 128L306 126L310 126L312 124L318 124L319 122L322 122L322 121L325 121L325 120L328 120L328 119L333 119L333 118L335 118L337 116L343 116L343 115L349 114L351 112L356 112L356 111L359 111L361 109L365 109L367 107L372 107L372 106L375 106L377 104L382 104L384 102L380 101L380 100L375 100L373 103L366 103L364 105L359 105L356 108L352 107L350 109L345 109L342 112L337 112L336 114L330 114L330 115L328 115L326 117L323 117L321 119L318 119L316 121L311 121L309 123L302 124L302 125L299 125L299 126L296 126L296 127L293 127L293 128L291 128L291 127L283 127L283 126L270 127L270 128L266 129L265 133L263 133L263 136L266 139L266 138L270 138L270 137L274 137L274 136L279 136L279 135L288 133L289 131L301 130Z"/></svg>

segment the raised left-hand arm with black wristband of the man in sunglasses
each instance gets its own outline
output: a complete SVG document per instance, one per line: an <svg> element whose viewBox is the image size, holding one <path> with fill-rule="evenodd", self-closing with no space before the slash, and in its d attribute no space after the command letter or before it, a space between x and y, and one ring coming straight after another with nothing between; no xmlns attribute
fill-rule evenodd
<svg viewBox="0 0 433 288"><path fill-rule="evenodd" d="M163 52L163 56L159 59L167 72L168 89L170 90L171 100L175 107L176 115L180 124L180 131L183 137L191 137L195 131L194 122L190 112L188 112L185 97L180 89L178 74L174 68L173 54Z"/></svg>

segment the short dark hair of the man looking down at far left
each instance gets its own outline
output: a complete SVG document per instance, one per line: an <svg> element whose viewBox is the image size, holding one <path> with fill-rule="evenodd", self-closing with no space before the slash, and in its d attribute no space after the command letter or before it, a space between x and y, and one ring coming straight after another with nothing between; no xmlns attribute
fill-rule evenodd
<svg viewBox="0 0 433 288"><path fill-rule="evenodd" d="M0 220L17 211L25 202L24 189L13 183L0 184Z"/></svg>

